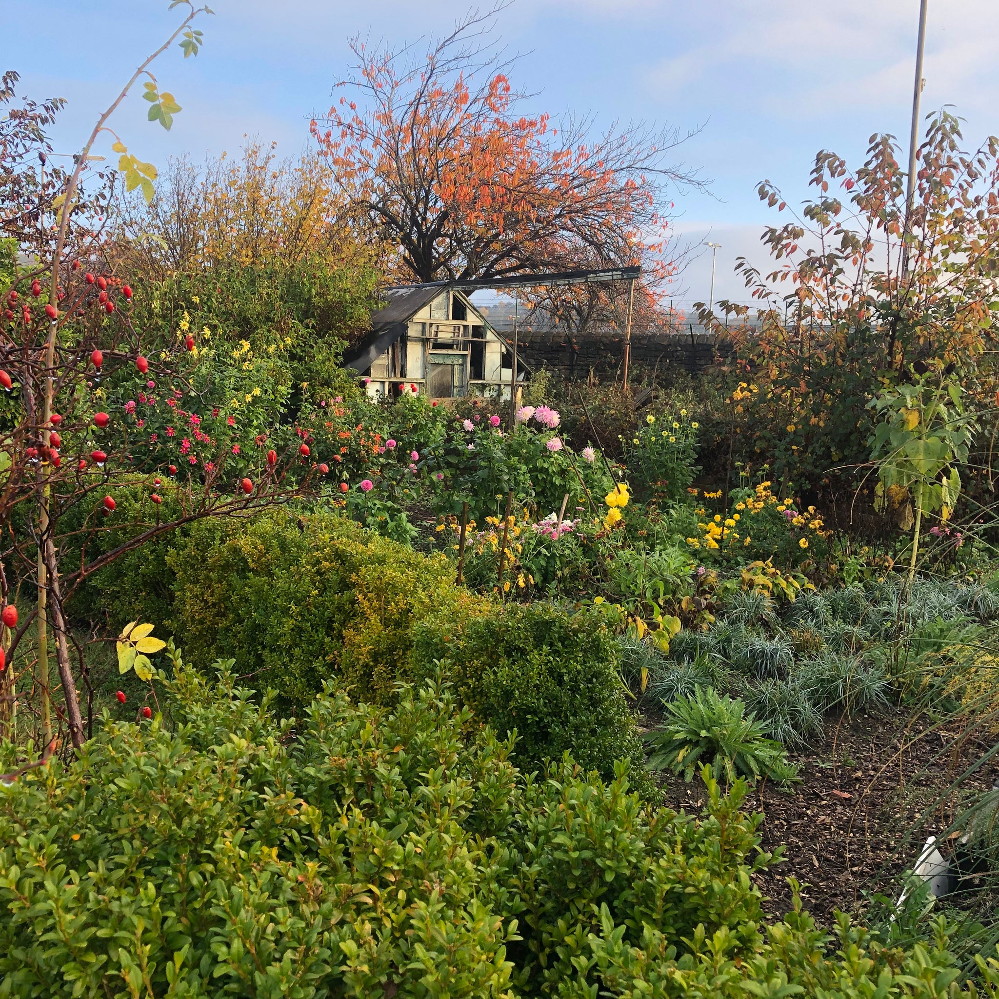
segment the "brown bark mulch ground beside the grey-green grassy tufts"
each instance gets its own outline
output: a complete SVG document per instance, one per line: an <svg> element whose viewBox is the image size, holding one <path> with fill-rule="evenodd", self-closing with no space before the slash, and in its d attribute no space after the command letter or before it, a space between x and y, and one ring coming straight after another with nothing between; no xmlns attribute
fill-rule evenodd
<svg viewBox="0 0 999 999"><path fill-rule="evenodd" d="M994 774L983 768L962 781L959 793L949 790L985 748L903 714L830 719L820 743L790 754L800 783L789 792L763 784L746 799L746 809L763 815L761 847L785 846L785 862L759 878L767 912L790 909L791 876L803 886L805 907L826 926L837 909L856 912L875 892L895 895L898 874L914 864L926 837L942 839L946 855L955 809L991 788ZM699 781L664 776L665 803L697 811L705 797Z"/></svg>

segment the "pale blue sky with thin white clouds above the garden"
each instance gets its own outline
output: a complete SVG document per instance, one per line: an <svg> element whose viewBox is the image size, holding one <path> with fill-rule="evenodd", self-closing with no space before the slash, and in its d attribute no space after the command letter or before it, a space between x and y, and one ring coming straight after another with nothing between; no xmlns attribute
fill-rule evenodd
<svg viewBox="0 0 999 999"><path fill-rule="evenodd" d="M130 151L162 166L236 152L249 137L288 156L309 145L309 119L333 102L352 65L352 38L399 48L449 31L463 0L210 0L205 46L174 46L154 70L183 111L167 133L148 123L141 87L109 123ZM180 20L168 0L0 0L3 69L21 92L69 100L56 148L80 149L134 67ZM532 111L588 115L594 127L643 121L693 133L675 161L710 183L673 193L677 245L693 259L674 281L679 307L708 296L746 301L733 267L766 255L775 221L756 195L777 184L790 206L808 195L816 152L859 165L872 133L908 143L919 0L514 0L496 19L511 81ZM929 0L924 112L966 120L966 145L999 134L997 0ZM108 154L110 138L98 152ZM785 221L786 215L781 216ZM698 249L699 248L699 249Z"/></svg>

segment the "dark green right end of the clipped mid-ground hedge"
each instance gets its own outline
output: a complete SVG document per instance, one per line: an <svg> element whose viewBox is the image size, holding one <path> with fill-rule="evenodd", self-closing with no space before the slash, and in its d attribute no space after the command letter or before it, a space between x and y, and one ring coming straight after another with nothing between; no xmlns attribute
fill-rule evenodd
<svg viewBox="0 0 999 999"><path fill-rule="evenodd" d="M570 752L609 779L614 760L626 759L632 780L650 790L615 642L592 611L538 601L461 620L441 613L416 627L416 678L438 661L477 718L500 733L516 729L523 769Z"/></svg>

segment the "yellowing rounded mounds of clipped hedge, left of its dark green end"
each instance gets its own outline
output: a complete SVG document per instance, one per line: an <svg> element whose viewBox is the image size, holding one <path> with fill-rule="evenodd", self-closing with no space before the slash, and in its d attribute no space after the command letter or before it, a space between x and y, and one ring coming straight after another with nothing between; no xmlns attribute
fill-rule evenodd
<svg viewBox="0 0 999 999"><path fill-rule="evenodd" d="M325 513L203 521L168 562L179 643L202 661L232 656L286 708L335 675L367 700L392 702L410 675L414 622L486 603L455 586L443 556Z"/></svg>

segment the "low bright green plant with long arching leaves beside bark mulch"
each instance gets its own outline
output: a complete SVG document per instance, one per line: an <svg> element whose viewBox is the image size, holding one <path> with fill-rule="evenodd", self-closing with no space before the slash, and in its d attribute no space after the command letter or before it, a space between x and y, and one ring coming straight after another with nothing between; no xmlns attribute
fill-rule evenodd
<svg viewBox="0 0 999 999"><path fill-rule="evenodd" d="M711 687L698 687L692 697L678 697L666 704L669 712L660 730L648 737L651 769L669 767L689 781L700 766L708 764L716 780L733 783L739 774L750 778L772 777L785 783L796 776L795 767L779 742L763 734L763 725L745 704L719 697Z"/></svg>

